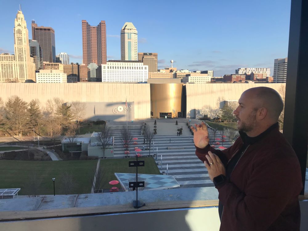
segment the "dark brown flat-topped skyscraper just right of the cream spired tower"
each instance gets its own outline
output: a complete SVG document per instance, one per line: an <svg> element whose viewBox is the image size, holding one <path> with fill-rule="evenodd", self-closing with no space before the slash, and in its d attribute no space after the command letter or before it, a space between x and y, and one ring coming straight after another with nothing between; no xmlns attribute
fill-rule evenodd
<svg viewBox="0 0 308 231"><path fill-rule="evenodd" d="M31 27L32 40L38 41L43 51L43 62L55 63L55 30L51 27L38 26L34 20L32 20Z"/></svg>

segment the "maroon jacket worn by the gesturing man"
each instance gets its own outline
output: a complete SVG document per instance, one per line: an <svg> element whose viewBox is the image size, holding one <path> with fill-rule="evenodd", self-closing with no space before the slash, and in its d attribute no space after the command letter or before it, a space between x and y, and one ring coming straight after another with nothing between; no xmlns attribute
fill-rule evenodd
<svg viewBox="0 0 308 231"><path fill-rule="evenodd" d="M242 145L239 137L223 151L196 147L196 155L204 161L211 151L226 166ZM298 158L277 126L249 145L230 179L216 187L224 205L220 230L299 230L302 187Z"/></svg>

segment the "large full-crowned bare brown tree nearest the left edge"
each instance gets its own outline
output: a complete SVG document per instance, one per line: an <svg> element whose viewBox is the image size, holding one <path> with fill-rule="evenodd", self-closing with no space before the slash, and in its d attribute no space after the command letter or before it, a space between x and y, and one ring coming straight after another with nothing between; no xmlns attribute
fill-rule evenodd
<svg viewBox="0 0 308 231"><path fill-rule="evenodd" d="M16 135L20 134L20 141L22 141L22 132L26 132L30 129L29 113L27 109L28 103L17 95L11 96L4 108L7 128Z"/></svg>

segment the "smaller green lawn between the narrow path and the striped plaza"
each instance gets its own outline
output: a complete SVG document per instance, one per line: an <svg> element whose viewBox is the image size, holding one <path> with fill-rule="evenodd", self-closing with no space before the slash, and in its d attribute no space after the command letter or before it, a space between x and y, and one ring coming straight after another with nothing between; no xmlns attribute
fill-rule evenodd
<svg viewBox="0 0 308 231"><path fill-rule="evenodd" d="M136 160L136 158L123 159L101 159L100 168L103 168L103 189L111 188L109 182L116 180L115 172L136 173L136 168L128 167L128 161ZM145 160L145 166L138 168L138 174L160 174L157 165L152 157L141 157L139 160Z"/></svg>

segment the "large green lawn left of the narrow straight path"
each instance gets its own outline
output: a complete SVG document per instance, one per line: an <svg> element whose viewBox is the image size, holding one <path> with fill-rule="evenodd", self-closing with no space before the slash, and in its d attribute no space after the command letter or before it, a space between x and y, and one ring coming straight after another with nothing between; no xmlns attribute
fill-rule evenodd
<svg viewBox="0 0 308 231"><path fill-rule="evenodd" d="M68 170L74 176L76 188L71 194L91 192L93 169L97 160L78 161L22 161L0 160L0 188L21 188L18 194L25 195L25 187L33 170L39 176L41 183L41 195L53 194L52 178L55 177L55 192L60 193L62 172ZM24 189L24 190L23 190Z"/></svg>

